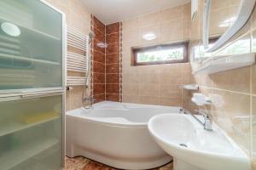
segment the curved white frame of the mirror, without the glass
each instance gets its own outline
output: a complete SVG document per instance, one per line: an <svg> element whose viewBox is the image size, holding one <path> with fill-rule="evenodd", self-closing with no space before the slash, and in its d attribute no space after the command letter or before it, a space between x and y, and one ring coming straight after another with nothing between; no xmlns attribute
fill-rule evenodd
<svg viewBox="0 0 256 170"><path fill-rule="evenodd" d="M230 28L224 32L224 34L218 38L217 42L214 43L212 48L208 48L209 43L209 22L210 22L210 12L212 6L212 0L205 0L204 14L203 14L203 45L207 53L216 51L225 42L228 42L231 37L233 37L237 31L239 31L250 18L253 13L253 8L255 6L256 0L241 0L241 6L239 8L238 17L235 23L230 26Z"/></svg>

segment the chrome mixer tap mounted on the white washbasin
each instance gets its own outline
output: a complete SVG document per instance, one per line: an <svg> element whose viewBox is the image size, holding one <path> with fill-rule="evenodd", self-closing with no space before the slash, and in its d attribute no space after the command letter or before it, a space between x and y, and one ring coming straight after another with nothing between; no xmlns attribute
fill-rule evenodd
<svg viewBox="0 0 256 170"><path fill-rule="evenodd" d="M200 118L192 114L190 111L187 111L185 109L180 109L180 114L188 114L190 116L193 116L197 122L200 122L200 124L204 127L204 129L206 129L207 131L212 131L212 121L207 110L199 110L199 111L196 111L196 113L198 113L198 115L203 116L204 121L201 121Z"/></svg>

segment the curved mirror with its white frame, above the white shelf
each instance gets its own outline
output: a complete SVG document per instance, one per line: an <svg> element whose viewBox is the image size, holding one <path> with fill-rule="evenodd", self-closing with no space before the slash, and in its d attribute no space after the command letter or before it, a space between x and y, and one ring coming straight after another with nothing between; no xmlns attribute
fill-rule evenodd
<svg viewBox="0 0 256 170"><path fill-rule="evenodd" d="M229 41L244 26L256 0L205 0L203 43L213 52Z"/></svg>

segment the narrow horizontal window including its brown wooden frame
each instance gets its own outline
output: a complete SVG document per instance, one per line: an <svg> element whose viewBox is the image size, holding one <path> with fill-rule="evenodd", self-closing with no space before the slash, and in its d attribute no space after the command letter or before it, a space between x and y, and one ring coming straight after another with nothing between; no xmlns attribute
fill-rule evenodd
<svg viewBox="0 0 256 170"><path fill-rule="evenodd" d="M133 65L157 65L188 62L189 42L132 48Z"/></svg>

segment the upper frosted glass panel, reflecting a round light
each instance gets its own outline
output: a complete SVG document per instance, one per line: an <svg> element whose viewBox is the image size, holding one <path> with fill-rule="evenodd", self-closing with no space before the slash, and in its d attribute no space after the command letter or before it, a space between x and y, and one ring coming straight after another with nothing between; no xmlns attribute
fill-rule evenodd
<svg viewBox="0 0 256 170"><path fill-rule="evenodd" d="M61 87L61 77L61 14L40 1L1 0L0 90Z"/></svg>

